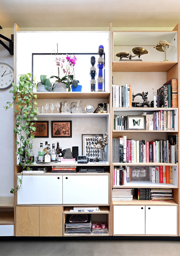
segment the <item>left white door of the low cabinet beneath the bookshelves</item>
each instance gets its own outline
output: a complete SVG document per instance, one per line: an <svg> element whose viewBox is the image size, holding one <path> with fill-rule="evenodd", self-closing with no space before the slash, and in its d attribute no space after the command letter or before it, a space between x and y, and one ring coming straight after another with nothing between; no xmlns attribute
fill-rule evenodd
<svg viewBox="0 0 180 256"><path fill-rule="evenodd" d="M113 234L145 234L145 207L114 206Z"/></svg>

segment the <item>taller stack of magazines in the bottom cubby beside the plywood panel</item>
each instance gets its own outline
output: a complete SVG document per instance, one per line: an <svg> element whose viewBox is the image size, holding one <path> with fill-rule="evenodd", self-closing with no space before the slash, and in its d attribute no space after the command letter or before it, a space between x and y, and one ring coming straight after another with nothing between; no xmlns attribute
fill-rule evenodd
<svg viewBox="0 0 180 256"><path fill-rule="evenodd" d="M91 234L91 226L91 214L68 214L66 217L66 234Z"/></svg>

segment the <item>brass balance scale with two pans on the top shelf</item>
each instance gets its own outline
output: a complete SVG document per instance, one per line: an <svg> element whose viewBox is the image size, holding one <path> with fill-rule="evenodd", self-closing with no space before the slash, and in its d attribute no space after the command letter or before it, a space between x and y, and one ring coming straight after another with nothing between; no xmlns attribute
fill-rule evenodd
<svg viewBox="0 0 180 256"><path fill-rule="evenodd" d="M142 47L134 47L132 49L132 52L133 52L133 54L135 54L134 56L132 56L131 51L129 53L125 53L125 52L117 53L115 56L119 57L120 61L124 60L123 58L127 58L128 60L133 61L132 58L138 56L139 59L134 59L134 61L142 61L142 59L140 59L141 55L148 54L148 51L146 51L146 49L144 49ZM128 61L128 60L126 60L126 61Z"/></svg>

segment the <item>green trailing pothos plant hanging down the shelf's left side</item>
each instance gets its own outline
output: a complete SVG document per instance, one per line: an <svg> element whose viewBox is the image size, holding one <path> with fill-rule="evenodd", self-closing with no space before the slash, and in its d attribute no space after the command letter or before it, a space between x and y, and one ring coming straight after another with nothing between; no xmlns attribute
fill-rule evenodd
<svg viewBox="0 0 180 256"><path fill-rule="evenodd" d="M36 132L36 115L38 105L36 101L33 101L33 87L35 86L35 79L32 79L32 73L27 73L20 75L19 85L12 83L13 90L10 93L13 94L13 102L7 102L4 106L5 110L13 108L14 106L19 106L18 110L14 110L16 115L16 128L14 128L14 133L17 136L17 147L18 150L15 152L16 155L21 156L21 161L19 166L23 169L30 170L30 166L33 165L33 158L30 158L29 150L32 149L32 139L34 139L34 134ZM34 95L37 99L37 95ZM36 106L35 106L36 105ZM33 121L31 120L33 119ZM18 177L18 185L12 188L10 193L15 193L19 190L22 184L21 179Z"/></svg>

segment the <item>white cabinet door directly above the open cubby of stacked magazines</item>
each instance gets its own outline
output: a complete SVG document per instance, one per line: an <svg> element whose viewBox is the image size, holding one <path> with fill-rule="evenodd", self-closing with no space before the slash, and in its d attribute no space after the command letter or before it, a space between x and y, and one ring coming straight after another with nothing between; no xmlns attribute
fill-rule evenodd
<svg viewBox="0 0 180 256"><path fill-rule="evenodd" d="M64 175L63 204L108 204L108 175Z"/></svg>

